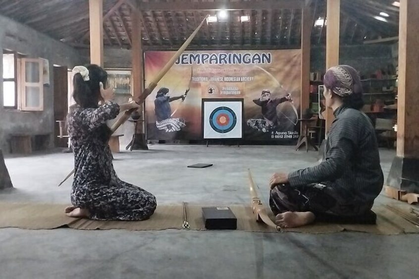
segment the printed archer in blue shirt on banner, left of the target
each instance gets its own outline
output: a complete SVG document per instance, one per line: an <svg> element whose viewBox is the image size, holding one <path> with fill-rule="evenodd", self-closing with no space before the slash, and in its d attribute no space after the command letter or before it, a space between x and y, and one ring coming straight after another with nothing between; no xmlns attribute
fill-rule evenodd
<svg viewBox="0 0 419 279"><path fill-rule="evenodd" d="M154 100L157 129L163 130L166 133L168 133L180 131L183 127L186 126L185 120L183 118L172 118L176 110L172 114L170 102L179 99L182 99L183 102L188 94L188 91L189 88L186 89L183 95L170 97L168 96L168 88L161 87L160 89L158 89L156 99Z"/></svg>

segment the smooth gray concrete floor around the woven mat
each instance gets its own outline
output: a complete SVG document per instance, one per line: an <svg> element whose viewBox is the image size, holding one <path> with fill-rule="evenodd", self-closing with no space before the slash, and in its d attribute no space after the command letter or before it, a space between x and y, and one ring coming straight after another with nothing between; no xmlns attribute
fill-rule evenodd
<svg viewBox="0 0 419 279"><path fill-rule="evenodd" d="M393 150L381 150L387 175ZM249 203L247 168L268 196L274 171L316 163L290 146L150 145L116 154L119 177L158 204ZM15 189L0 200L69 203L72 154L6 157ZM187 168L198 162L214 165ZM397 202L381 195L377 202ZM3 213L2 213L3 214ZM35 213L36 214L36 213ZM418 278L419 235L241 231L80 231L0 229L0 278Z"/></svg>

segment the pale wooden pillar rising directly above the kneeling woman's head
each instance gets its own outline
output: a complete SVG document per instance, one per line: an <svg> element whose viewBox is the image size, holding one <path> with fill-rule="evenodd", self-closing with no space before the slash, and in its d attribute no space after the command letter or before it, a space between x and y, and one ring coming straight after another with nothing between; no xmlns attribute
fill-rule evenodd
<svg viewBox="0 0 419 279"><path fill-rule="evenodd" d="M104 66L103 0L89 0L90 63Z"/></svg>

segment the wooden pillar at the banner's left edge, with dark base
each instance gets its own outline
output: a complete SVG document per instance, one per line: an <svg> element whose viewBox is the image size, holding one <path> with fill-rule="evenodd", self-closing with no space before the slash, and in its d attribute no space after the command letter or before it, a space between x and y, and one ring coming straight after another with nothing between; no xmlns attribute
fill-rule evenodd
<svg viewBox="0 0 419 279"><path fill-rule="evenodd" d="M141 11L138 8L132 7L132 93L133 96L138 96L140 92L144 90L144 73L143 73L143 44L142 44L142 16ZM144 133L145 121L144 121L144 107L145 103L142 104L138 110L141 116L140 121L137 124L135 130L135 138L132 149L143 149L147 150L147 140Z"/></svg>

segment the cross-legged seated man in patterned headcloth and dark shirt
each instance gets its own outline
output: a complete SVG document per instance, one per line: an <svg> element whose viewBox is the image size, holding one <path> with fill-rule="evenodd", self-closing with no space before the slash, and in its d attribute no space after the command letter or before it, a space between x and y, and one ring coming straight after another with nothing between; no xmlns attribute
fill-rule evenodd
<svg viewBox="0 0 419 279"><path fill-rule="evenodd" d="M326 107L333 120L322 161L270 178L270 207L282 228L317 220L353 220L375 214L370 210L384 182L374 127L360 111L362 85L357 71L346 65L324 76ZM371 218L369 218L371 219Z"/></svg>

